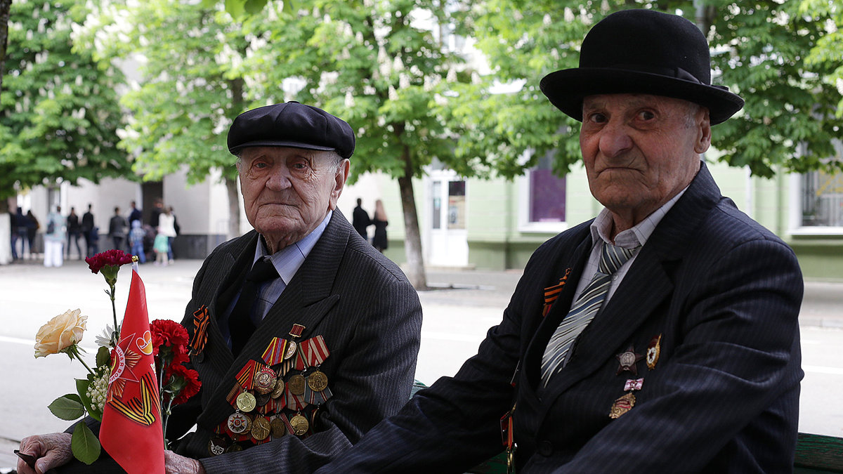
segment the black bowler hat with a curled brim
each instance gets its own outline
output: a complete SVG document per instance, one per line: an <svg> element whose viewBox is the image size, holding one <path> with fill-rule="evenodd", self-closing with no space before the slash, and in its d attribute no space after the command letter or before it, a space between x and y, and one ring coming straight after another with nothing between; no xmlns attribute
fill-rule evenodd
<svg viewBox="0 0 843 474"><path fill-rule="evenodd" d="M653 10L624 10L599 21L583 40L579 67L548 74L540 88L577 121L583 121L583 97L594 94L688 100L708 108L711 125L744 106L727 87L711 85L708 42L695 24Z"/></svg>

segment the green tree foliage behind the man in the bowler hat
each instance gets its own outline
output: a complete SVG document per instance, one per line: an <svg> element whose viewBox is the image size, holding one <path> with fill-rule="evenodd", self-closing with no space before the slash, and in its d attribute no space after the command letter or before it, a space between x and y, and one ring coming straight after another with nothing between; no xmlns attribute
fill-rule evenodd
<svg viewBox="0 0 843 474"><path fill-rule="evenodd" d="M843 125L839 110L835 115L840 90L830 80L841 72L839 0L489 0L473 10L472 31L497 78L526 81L517 104L543 110L547 101L539 79L556 69L576 67L578 46L589 27L623 8L679 12L707 35L715 83L728 85L746 100L742 112L712 129L712 143L722 152L719 160L748 166L764 177L774 175L777 167L801 173L843 166L826 160ZM835 28L836 49L826 51L837 56L823 55L819 48L831 47L830 31ZM517 113L507 111L505 116ZM568 118L556 121L561 127L556 131L555 167L564 173L580 159L577 136L569 133L578 124Z"/></svg>

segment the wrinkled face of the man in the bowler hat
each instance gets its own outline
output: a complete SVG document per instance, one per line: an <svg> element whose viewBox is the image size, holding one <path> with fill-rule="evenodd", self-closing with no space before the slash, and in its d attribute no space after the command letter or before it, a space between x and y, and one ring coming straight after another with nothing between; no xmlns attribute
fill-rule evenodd
<svg viewBox="0 0 843 474"><path fill-rule="evenodd" d="M631 225L690 184L710 143L708 110L688 101L647 94L583 100L580 148L588 186Z"/></svg>

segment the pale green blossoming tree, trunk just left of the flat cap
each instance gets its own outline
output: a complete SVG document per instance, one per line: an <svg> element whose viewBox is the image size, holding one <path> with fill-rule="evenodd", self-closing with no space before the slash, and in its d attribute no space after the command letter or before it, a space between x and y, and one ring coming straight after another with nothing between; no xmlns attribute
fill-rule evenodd
<svg viewBox="0 0 843 474"><path fill-rule="evenodd" d="M237 170L226 133L245 110L237 65L248 46L228 13L168 0L103 5L85 37L110 60L139 62L132 89L121 98L131 112L120 148L135 155L144 180L187 167L201 182L222 172L228 190L229 236L239 235Z"/></svg>

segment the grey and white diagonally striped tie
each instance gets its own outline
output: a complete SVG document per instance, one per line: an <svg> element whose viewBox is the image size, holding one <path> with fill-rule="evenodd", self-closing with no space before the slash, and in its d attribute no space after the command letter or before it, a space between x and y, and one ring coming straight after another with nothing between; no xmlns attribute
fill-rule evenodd
<svg viewBox="0 0 843 474"><path fill-rule="evenodd" d="M634 249L625 249L603 243L599 270L594 273L588 286L583 288L583 294L574 301L568 315L556 327L556 331L550 337L550 342L545 347L545 354L541 358L541 380L545 386L550 381L550 377L567 364L568 353L574 341L577 340L577 336L594 319L594 315L597 315L603 305L606 294L609 293L609 284L612 283L612 274L617 272L618 268L640 248L639 245Z"/></svg>

